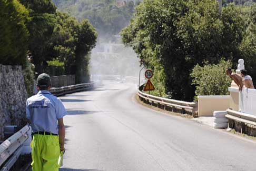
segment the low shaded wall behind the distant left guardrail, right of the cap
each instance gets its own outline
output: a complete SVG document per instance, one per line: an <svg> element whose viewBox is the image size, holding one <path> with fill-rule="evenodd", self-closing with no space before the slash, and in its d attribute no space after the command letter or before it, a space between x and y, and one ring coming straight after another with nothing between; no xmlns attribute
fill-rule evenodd
<svg viewBox="0 0 256 171"><path fill-rule="evenodd" d="M52 87L64 87L75 85L75 75L52 76Z"/></svg>

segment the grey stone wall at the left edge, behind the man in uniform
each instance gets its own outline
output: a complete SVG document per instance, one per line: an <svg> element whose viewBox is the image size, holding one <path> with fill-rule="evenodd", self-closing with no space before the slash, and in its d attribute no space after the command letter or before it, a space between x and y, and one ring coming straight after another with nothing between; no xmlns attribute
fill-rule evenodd
<svg viewBox="0 0 256 171"><path fill-rule="evenodd" d="M0 64L0 138L5 125L24 126L27 92L21 66Z"/></svg>

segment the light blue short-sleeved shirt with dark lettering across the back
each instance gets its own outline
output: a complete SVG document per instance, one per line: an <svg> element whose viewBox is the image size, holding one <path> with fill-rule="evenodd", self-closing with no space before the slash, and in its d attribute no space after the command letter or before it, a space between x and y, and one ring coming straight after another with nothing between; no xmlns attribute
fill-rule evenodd
<svg viewBox="0 0 256 171"><path fill-rule="evenodd" d="M41 90L27 99L26 113L33 133L42 131L53 134L58 134L57 120L67 114L61 99L47 90Z"/></svg>

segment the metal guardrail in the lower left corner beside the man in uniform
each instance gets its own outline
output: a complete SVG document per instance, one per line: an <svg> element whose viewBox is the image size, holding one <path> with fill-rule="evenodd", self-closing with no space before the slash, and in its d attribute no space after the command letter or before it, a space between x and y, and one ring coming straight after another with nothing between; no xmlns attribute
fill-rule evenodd
<svg viewBox="0 0 256 171"><path fill-rule="evenodd" d="M16 162L22 152L23 143L29 137L29 129L31 128L28 125L24 126L21 130L6 139L0 145L0 166L2 167L1 171L9 170Z"/></svg>

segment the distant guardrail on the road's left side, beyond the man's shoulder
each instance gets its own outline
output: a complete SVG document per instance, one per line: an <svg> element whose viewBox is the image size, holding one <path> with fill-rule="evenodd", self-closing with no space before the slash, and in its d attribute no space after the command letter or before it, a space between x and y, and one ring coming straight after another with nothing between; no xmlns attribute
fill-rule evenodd
<svg viewBox="0 0 256 171"><path fill-rule="evenodd" d="M83 84L76 84L76 85L58 87L58 88L53 87L50 89L50 92L55 96L62 96L65 94L88 90L93 88L93 86L94 86L94 83L83 83Z"/></svg>

